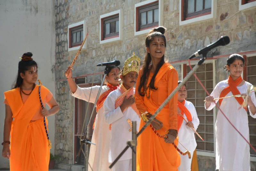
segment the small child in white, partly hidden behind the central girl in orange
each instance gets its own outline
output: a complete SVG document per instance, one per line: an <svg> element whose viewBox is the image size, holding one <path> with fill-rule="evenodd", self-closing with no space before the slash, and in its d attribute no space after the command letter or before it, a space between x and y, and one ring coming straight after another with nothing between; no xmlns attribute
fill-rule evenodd
<svg viewBox="0 0 256 171"><path fill-rule="evenodd" d="M181 81L178 82L180 84ZM194 135L194 131L192 127L196 130L198 125L199 125L199 119L196 114L196 109L195 106L185 100L187 97L187 85L184 84L179 90L178 90L178 113L183 114L183 117L188 120L188 123L178 115L178 136L179 136L179 144L178 148L181 151L186 151L188 150L193 156L193 153L196 149L196 138ZM188 112L185 112L182 110L182 106L185 106L188 110ZM180 106L180 108L179 108ZM189 115L190 114L190 115ZM186 115L189 115L188 118ZM186 147L186 149L182 146ZM179 171L190 171L191 170L191 161L192 158L189 159L187 155L183 156L180 154L180 167L178 168Z"/></svg>

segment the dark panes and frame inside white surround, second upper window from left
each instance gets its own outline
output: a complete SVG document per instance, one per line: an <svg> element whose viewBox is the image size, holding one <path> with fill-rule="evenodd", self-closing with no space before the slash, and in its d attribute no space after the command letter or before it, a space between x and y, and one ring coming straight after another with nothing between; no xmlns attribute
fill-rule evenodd
<svg viewBox="0 0 256 171"><path fill-rule="evenodd" d="M111 36L119 35L119 15L114 15L103 19L104 39Z"/></svg>

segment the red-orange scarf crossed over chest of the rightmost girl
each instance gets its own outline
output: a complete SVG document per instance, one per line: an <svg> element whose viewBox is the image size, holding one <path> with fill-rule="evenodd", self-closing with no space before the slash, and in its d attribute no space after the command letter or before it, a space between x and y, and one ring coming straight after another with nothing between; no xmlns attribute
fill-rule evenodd
<svg viewBox="0 0 256 171"><path fill-rule="evenodd" d="M233 95L238 95L241 94L239 92L239 90L236 88L241 82L243 81L242 77L240 76L239 78L237 78L235 81L233 81L233 79L230 77L230 75L228 76L228 87L226 87L225 89L223 89L220 93L220 98L221 97L225 97L230 91L232 92ZM236 101L242 105L244 102L243 97L235 97ZM221 105L223 99L219 100L219 104ZM247 108L244 108L247 111Z"/></svg>

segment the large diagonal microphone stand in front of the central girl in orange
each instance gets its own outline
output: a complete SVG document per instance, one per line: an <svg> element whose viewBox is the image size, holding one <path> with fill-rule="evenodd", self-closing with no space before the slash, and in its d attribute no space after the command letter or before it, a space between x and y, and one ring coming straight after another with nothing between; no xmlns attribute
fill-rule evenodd
<svg viewBox="0 0 256 171"><path fill-rule="evenodd" d="M207 52L206 52L207 53ZM115 163L120 159L120 157L124 154L124 152L131 147L132 148L132 171L136 171L136 146L137 146L137 137L140 136L140 134L147 128L147 126L156 118L156 115L164 108L164 106L171 100L171 98L177 93L177 91L184 85L185 82L188 81L188 79L192 76L192 74L199 68L200 65L204 63L204 60L206 59L206 53L203 54L203 58L200 59L200 61L194 66L194 68L188 73L188 75L183 79L183 81L172 91L172 93L164 100L164 102L159 106L159 108L156 110L156 112L148 119L146 124L140 129L137 135L133 134L133 128L135 128L135 125L133 124L134 121L132 121L132 141L127 142L127 146L124 148L124 150L117 156L117 158L114 160L114 162L109 166L109 168L112 168ZM135 128L136 130L136 128ZM136 132L135 132L136 134ZM136 139L134 139L136 138ZM134 142L136 141L136 143ZM135 150L134 150L135 149ZM134 154L135 153L135 154ZM134 159L135 158L135 159Z"/></svg>

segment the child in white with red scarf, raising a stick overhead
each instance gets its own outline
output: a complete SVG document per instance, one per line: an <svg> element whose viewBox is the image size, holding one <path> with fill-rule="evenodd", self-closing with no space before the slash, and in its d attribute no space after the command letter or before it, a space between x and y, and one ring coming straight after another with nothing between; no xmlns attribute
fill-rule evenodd
<svg viewBox="0 0 256 171"><path fill-rule="evenodd" d="M109 152L111 132L108 129L108 124L104 120L104 117L103 117L104 108L102 106L109 91L111 90L113 91L119 85L120 81L118 81L118 79L119 79L120 68L117 66L109 66L108 68L109 68L108 73L106 75L106 80L108 81L108 83L106 86L105 85L102 86L100 90L100 97L97 101L97 106L96 106L96 109L98 110L98 112L96 115L95 125L93 129L93 134L92 134L92 143L95 143L96 145L91 145L90 147L88 170L91 170L91 167L92 167L93 171L102 171L102 170L111 171L112 170L108 168L109 167L108 152ZM66 77L67 77L68 85L70 88L70 94L84 101L95 103L100 86L80 88L76 85L76 83L72 79L72 71L70 67L68 67L68 69L66 70L65 75L66 74L68 74ZM108 93L105 94L106 95L105 97L103 93L107 91ZM90 92L91 92L91 97L89 101Z"/></svg>

